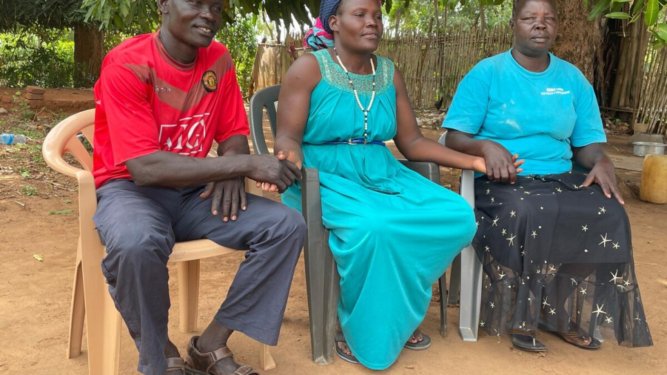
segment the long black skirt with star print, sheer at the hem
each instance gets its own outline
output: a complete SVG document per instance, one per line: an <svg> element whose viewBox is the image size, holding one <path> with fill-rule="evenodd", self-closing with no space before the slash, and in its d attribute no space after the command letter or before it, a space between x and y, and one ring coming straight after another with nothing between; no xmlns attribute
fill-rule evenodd
<svg viewBox="0 0 667 375"><path fill-rule="evenodd" d="M653 345L635 280L628 215L586 175L476 179L474 248L485 271L480 327Z"/></svg>

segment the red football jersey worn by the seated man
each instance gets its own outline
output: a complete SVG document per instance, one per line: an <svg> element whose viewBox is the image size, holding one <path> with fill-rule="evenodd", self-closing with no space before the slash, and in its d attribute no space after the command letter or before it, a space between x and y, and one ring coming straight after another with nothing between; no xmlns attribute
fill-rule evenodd
<svg viewBox="0 0 667 375"><path fill-rule="evenodd" d="M95 186L131 178L127 160L155 151L206 157L213 140L248 135L248 119L225 46L199 48L191 64L171 58L159 31L127 39L104 58L95 84Z"/></svg>

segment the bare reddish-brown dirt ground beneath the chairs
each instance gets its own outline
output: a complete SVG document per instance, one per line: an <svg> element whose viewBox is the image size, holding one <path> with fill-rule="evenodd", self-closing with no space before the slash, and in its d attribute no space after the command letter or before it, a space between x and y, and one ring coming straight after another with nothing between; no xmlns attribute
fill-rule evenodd
<svg viewBox="0 0 667 375"><path fill-rule="evenodd" d="M10 113L10 116L12 113ZM57 119L43 119L42 134ZM14 124L0 117L0 131ZM49 125L50 124L50 125ZM438 131L425 131L437 138ZM35 137L37 138L37 137ZM608 152L620 164L641 165L622 137L610 137ZM77 193L68 177L52 173L39 157L40 140L28 146L0 147L0 374L88 374L84 352L65 357L77 247ZM632 169L632 167L628 167ZM636 169L636 168L635 168ZM619 177L636 189L641 173L619 169ZM445 175L445 184L456 179ZM619 347L609 338L597 352L566 345L544 334L546 354L512 349L507 337L481 333L477 343L458 336L458 307L449 309L447 338L438 334L438 302L434 300L422 325L433 339L424 352L403 352L387 374L667 374L667 206L641 202L626 191L626 209L632 222L637 279L644 297L655 346ZM276 195L270 198L278 199ZM37 256L36 256L37 254ZM36 258L43 258L39 261ZM203 329L224 299L242 253L202 261L199 329ZM175 267L170 265L171 276ZM191 334L178 330L180 306L176 278L170 282L171 338L184 351ZM229 341L240 363L259 368L258 343L242 334ZM336 358L333 365L311 363L305 273L302 260L296 269L282 335L271 350L278 367L262 374L371 374L360 365ZM121 374L135 374L137 351L129 335L122 335Z"/></svg>

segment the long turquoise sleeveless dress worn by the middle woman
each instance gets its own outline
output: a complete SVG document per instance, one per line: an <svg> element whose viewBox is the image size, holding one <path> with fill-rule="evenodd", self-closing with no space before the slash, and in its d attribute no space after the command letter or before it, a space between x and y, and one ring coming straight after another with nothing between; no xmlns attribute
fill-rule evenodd
<svg viewBox="0 0 667 375"><path fill-rule="evenodd" d="M322 80L303 135L304 166L320 172L322 222L340 274L338 318L351 352L370 369L392 365L429 307L431 286L476 231L456 193L405 168L380 144L326 144L363 138L364 115L345 72L327 50L313 52ZM351 74L367 108L372 75ZM368 140L396 135L394 64L378 57ZM301 209L300 185L282 201Z"/></svg>

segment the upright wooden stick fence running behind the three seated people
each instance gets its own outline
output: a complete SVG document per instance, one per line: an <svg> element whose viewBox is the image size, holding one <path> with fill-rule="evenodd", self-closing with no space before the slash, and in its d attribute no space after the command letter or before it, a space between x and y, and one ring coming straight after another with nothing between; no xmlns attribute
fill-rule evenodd
<svg viewBox="0 0 667 375"><path fill-rule="evenodd" d="M272 79L280 81L289 64L305 52L301 45L302 38L302 35L291 34L280 46L284 50L280 72L258 70L271 71L271 75L278 76ZM427 37L416 33L385 37L380 42L378 55L396 63L414 108L433 108L441 98L443 108L447 108L458 83L475 64L511 46L512 32L506 25L484 30L459 26ZM267 75L267 71L253 71L253 75ZM641 85L637 85L639 100L635 102L635 122L647 124L648 133L667 135L667 48L648 48L644 74L639 77ZM264 86L260 81L255 79L258 83L255 90Z"/></svg>

